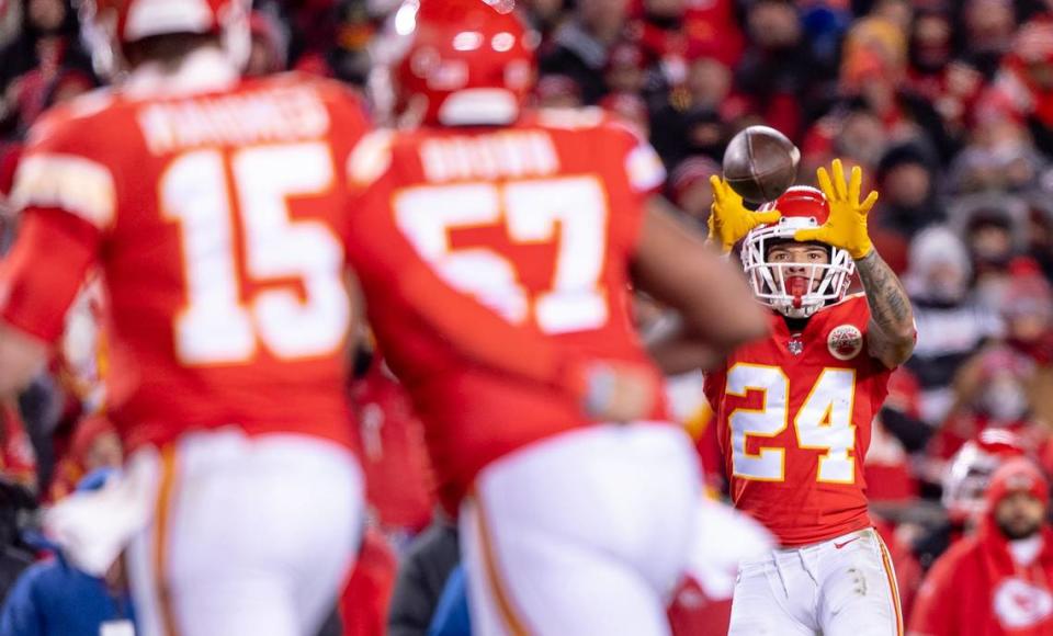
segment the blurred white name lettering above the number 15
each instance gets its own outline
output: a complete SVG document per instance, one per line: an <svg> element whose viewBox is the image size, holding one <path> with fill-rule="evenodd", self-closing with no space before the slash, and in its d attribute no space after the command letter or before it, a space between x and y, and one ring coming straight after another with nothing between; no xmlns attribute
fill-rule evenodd
<svg viewBox="0 0 1053 636"><path fill-rule="evenodd" d="M139 112L138 122L152 155L314 139L329 130L325 104L305 88L151 104Z"/></svg>

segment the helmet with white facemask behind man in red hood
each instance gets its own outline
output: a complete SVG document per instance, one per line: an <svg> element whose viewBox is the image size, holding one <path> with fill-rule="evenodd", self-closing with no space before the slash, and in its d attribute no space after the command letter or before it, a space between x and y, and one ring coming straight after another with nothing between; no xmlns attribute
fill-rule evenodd
<svg viewBox="0 0 1053 636"><path fill-rule="evenodd" d="M1006 429L985 429L951 457L943 474L943 507L951 519L965 521L983 513L990 476L1006 459L1027 456L1023 440Z"/></svg>

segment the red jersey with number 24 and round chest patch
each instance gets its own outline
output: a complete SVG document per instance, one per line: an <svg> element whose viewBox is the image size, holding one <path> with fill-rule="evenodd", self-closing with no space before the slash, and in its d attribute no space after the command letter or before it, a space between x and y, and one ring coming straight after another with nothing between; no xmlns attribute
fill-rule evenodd
<svg viewBox="0 0 1053 636"><path fill-rule="evenodd" d="M873 525L863 457L891 371L867 352L870 308L849 296L791 333L739 348L709 374L732 500L784 546Z"/></svg>

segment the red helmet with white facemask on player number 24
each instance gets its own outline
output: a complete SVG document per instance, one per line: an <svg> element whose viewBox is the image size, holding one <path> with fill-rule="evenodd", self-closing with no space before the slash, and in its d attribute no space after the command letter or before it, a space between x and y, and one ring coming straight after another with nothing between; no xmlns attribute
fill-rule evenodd
<svg viewBox="0 0 1053 636"><path fill-rule="evenodd" d="M772 225L757 226L743 242L743 266L757 298L791 318L807 318L826 304L842 299L856 272L856 263L847 251L827 246L830 249L827 264L802 265L768 260L767 250L772 243L793 240L799 229L826 223L830 216L826 196L815 188L797 185L760 209L778 209L782 218ZM786 275L791 269L806 270L807 279Z"/></svg>

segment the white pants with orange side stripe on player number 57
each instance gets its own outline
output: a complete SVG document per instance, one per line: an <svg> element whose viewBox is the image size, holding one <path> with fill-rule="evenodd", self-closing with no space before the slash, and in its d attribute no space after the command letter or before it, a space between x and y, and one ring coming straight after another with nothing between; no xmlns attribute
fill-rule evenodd
<svg viewBox="0 0 1053 636"><path fill-rule="evenodd" d="M490 464L458 520L473 634L668 634L701 486L671 424L579 429Z"/></svg>

